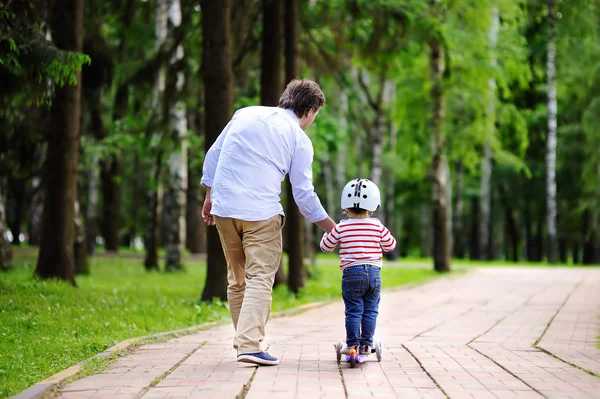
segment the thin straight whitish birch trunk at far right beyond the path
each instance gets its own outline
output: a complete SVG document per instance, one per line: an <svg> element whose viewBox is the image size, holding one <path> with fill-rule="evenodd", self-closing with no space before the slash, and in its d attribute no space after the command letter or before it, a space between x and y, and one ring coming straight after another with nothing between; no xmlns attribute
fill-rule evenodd
<svg viewBox="0 0 600 399"><path fill-rule="evenodd" d="M554 43L555 0L548 0L548 59L546 77L548 84L548 138L546 152L546 224L548 231L548 262L556 262L556 81Z"/></svg>

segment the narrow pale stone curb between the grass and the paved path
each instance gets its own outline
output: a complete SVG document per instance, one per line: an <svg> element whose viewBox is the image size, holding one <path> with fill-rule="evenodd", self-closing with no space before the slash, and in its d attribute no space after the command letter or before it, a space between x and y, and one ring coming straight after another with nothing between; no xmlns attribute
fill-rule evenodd
<svg viewBox="0 0 600 399"><path fill-rule="evenodd" d="M470 272L472 272L472 270L460 270L459 273L452 273L452 274L446 274L446 275L442 274L438 277L438 279L439 278L456 278L456 277L459 277L460 275L467 274ZM394 292L394 291L399 291L399 290L410 290L410 289L419 287L423 284L426 284L428 282L430 282L430 280L424 280L424 281L417 282L417 283L404 284L404 285L400 285L397 287L391 287L391 288L384 289L384 291ZM316 308L320 308L320 307L329 305L330 303L335 302L336 300L338 300L338 299L331 299L328 301L320 301L320 302L311 302L308 304L300 305L295 308L282 310L282 311L273 313L271 315L271 318L275 319L275 318L280 318L280 317L293 316L293 315L296 315L299 313L306 312L308 310L312 310L312 309L316 309ZM126 340L106 349L103 352L100 352L88 359L82 360L81 362L74 364L73 366L68 367L63 371L60 371L60 372L46 378L45 380L42 380L40 382L33 384L29 388L26 388L23 391L16 394L15 396L13 396L11 399L41 399L41 398L44 398L48 394L51 394L52 391L55 391L56 389L60 388L60 386L63 383L67 382L67 380L77 379L77 375L81 372L82 367L86 363L92 361L93 359L106 359L106 358L109 358L110 356L115 356L115 355L118 355L119 353L133 350L141 345L144 345L144 344L149 343L156 339L177 338L177 337L181 337L184 335L194 334L198 331L207 330L212 327L217 327L219 325L223 325L226 323L229 323L229 320L211 321L208 323L203 323L203 324L199 324L196 326L190 326L190 327L182 328L179 330L166 331L166 332L162 332L162 333L146 335L143 337L126 339Z"/></svg>

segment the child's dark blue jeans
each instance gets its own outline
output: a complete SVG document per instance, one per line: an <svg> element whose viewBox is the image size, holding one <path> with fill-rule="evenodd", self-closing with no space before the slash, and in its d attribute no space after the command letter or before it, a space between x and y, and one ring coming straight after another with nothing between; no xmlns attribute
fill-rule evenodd
<svg viewBox="0 0 600 399"><path fill-rule="evenodd" d="M381 269L369 265L343 270L342 298L346 305L346 344L373 346L379 314Z"/></svg>

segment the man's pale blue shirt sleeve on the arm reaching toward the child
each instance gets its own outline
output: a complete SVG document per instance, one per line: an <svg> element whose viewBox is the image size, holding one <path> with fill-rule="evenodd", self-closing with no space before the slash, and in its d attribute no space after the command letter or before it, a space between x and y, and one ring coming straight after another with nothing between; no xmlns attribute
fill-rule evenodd
<svg viewBox="0 0 600 399"><path fill-rule="evenodd" d="M312 183L313 147L308 137L298 139L290 166L290 182L294 200L302 215L312 223L327 218L327 212Z"/></svg>

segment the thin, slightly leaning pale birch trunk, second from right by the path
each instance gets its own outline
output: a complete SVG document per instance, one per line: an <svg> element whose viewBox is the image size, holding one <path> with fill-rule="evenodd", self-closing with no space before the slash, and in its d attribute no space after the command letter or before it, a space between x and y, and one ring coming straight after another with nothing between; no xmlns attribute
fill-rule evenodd
<svg viewBox="0 0 600 399"><path fill-rule="evenodd" d="M496 43L498 42L498 29L500 24L498 7L492 8L492 19L489 32L490 42L490 64L492 73L495 73L496 61ZM489 98L487 105L487 123L488 131L483 149L483 163L481 166L481 201L479 202L479 237L480 237L480 257L481 259L490 259L490 223L491 223L491 176L492 176L492 139L496 134L496 78L490 78Z"/></svg>

